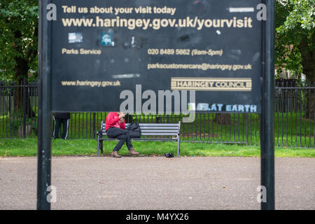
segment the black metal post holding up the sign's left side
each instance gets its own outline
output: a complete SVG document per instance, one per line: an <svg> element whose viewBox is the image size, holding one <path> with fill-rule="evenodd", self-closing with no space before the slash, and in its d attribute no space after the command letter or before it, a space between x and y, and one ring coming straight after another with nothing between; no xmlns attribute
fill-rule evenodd
<svg viewBox="0 0 315 224"><path fill-rule="evenodd" d="M50 26L45 17L48 1L39 3L38 27L38 168L37 168L37 209L50 210L48 200L51 180L51 112L50 112Z"/></svg>

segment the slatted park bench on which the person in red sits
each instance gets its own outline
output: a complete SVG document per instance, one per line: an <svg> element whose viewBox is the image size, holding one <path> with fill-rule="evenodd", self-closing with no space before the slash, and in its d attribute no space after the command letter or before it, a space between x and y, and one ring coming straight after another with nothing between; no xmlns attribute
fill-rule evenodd
<svg viewBox="0 0 315 224"><path fill-rule="evenodd" d="M126 129L130 125L127 123ZM172 124L161 123L139 123L141 129L141 138L132 139L133 141L177 141L177 156L180 153L181 144L181 122ZM103 153L103 141L113 141L117 139L111 139L107 137L105 131L105 123L102 121L101 130L97 132L97 156L99 151Z"/></svg>

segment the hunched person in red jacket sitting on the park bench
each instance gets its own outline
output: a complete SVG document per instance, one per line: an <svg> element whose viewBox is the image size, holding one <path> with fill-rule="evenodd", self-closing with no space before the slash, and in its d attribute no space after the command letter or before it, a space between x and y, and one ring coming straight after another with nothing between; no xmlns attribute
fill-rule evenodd
<svg viewBox="0 0 315 224"><path fill-rule="evenodd" d="M138 152L134 151L132 147L130 134L128 130L125 130L125 114L122 112L110 112L106 117L105 130L108 137L111 139L118 139L118 144L113 149L111 155L114 158L120 158L118 151L126 142L127 148L130 155L139 155Z"/></svg>

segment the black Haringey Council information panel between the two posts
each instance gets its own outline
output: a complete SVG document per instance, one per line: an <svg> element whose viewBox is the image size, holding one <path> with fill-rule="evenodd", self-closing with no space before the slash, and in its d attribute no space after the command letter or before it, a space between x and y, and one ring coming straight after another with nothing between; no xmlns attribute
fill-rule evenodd
<svg viewBox="0 0 315 224"><path fill-rule="evenodd" d="M52 111L119 111L124 90L134 105L195 90L190 109L261 111L260 1L53 3Z"/></svg>

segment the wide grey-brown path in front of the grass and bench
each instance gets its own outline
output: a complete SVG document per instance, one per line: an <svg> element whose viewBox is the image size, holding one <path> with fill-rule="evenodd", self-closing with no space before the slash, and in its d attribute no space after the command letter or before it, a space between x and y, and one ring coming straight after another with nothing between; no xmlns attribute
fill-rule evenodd
<svg viewBox="0 0 315 224"><path fill-rule="evenodd" d="M315 209L315 159L276 158L276 209ZM37 158L0 158L0 209L36 209ZM54 157L51 209L260 209L260 158Z"/></svg>

